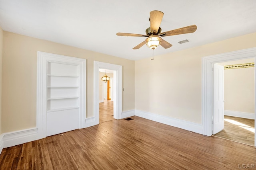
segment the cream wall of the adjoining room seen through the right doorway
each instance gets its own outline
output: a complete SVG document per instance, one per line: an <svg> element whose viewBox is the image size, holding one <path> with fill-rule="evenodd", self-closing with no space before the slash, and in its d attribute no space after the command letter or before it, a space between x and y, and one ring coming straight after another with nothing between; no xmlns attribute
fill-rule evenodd
<svg viewBox="0 0 256 170"><path fill-rule="evenodd" d="M224 99L225 110L254 113L254 67L224 70Z"/></svg>

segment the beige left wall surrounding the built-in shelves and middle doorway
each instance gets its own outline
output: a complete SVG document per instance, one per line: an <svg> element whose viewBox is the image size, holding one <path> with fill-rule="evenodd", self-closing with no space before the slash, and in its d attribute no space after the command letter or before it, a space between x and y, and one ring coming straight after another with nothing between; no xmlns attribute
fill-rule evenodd
<svg viewBox="0 0 256 170"><path fill-rule="evenodd" d="M37 51L87 59L86 117L93 116L93 61L122 65L122 110L134 109L134 61L4 31L2 133L36 127Z"/></svg>

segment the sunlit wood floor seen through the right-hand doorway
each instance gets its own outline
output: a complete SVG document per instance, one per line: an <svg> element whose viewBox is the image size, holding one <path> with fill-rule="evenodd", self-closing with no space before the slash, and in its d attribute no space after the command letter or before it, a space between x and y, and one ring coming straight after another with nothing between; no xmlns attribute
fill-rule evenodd
<svg viewBox="0 0 256 170"><path fill-rule="evenodd" d="M224 129L215 134L232 141L254 146L254 120L224 116Z"/></svg>

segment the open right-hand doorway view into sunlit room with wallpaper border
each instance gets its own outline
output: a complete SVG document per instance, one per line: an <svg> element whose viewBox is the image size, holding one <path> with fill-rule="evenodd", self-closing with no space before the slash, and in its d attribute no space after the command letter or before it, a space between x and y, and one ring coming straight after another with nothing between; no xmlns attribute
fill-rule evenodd
<svg viewBox="0 0 256 170"><path fill-rule="evenodd" d="M224 129L214 136L254 146L254 59L218 64L224 66Z"/></svg>

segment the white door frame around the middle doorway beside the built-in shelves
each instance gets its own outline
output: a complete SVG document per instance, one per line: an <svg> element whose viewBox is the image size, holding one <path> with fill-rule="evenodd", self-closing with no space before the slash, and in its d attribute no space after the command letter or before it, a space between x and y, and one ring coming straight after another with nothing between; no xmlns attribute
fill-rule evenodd
<svg viewBox="0 0 256 170"><path fill-rule="evenodd" d="M113 110L114 118L121 119L122 114L122 66L94 61L94 117L96 125L100 122L99 112L99 70L100 68L114 70L113 73Z"/></svg>

